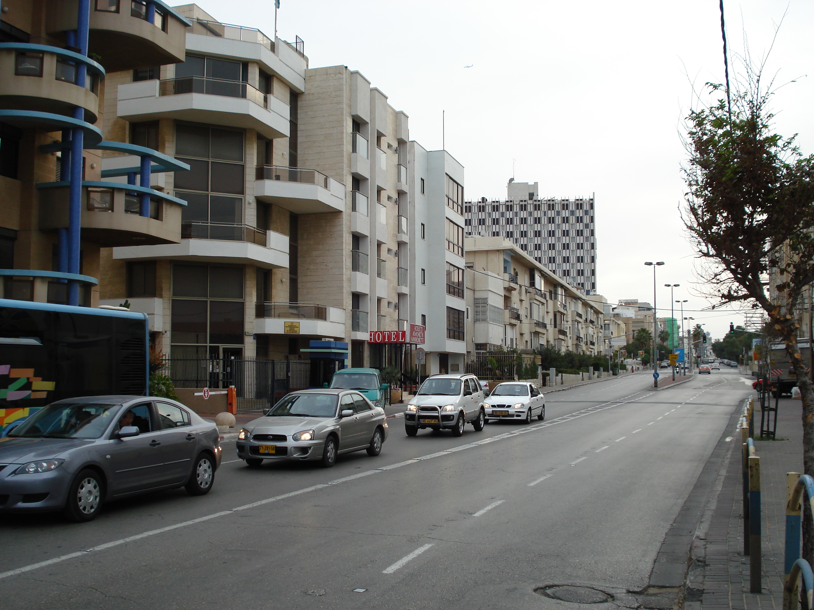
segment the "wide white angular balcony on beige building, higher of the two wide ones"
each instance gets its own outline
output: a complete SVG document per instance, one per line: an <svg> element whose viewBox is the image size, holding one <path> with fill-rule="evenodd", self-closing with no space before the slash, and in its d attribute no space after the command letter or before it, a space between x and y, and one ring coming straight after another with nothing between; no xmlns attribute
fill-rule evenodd
<svg viewBox="0 0 814 610"><path fill-rule="evenodd" d="M130 122L177 119L288 137L289 107L248 83L204 76L119 85L117 115Z"/></svg>

